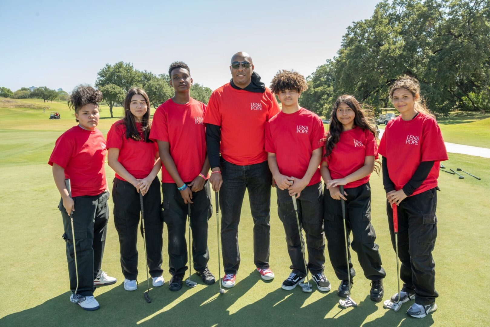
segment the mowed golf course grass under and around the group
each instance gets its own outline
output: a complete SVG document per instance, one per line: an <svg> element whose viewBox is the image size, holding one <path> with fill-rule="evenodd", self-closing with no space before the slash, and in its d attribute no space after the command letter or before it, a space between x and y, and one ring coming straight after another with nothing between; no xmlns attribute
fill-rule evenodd
<svg viewBox="0 0 490 327"><path fill-rule="evenodd" d="M239 232L242 263L236 286L218 295L217 284L204 286L194 274L193 279L199 280L196 288L184 285L181 291L171 292L164 245L166 283L150 291L152 303L149 304L143 299L146 273L141 238L138 244L139 288L135 292L123 289L119 242L113 223L112 200L109 200L111 217L102 268L117 277L118 282L97 289L95 295L101 305L98 311L83 311L69 301L65 242L61 238L63 227L57 209L59 194L47 164L55 139L75 124L73 111L64 103L46 103L50 109L43 114L42 109L28 108L33 104L44 105L42 101L24 101L27 108L0 108L0 326L490 325L490 292L486 288L490 281L490 159L457 154L449 155L450 160L444 162L446 167L463 168L482 180L470 176L459 180L441 172L438 238L434 251L439 309L424 319L405 314L412 302L403 304L395 313L384 309L382 302L369 300L369 281L364 278L355 253L353 263L357 275L352 297L359 303L358 307L342 309L339 306L336 292L339 281L327 253L325 274L332 282L330 292L322 293L315 288L307 294L299 287L293 291L282 290L281 282L290 273L290 261L284 230L277 218L274 190L270 249L274 280L265 282L254 271L253 223L245 195ZM49 120L51 110L60 111L62 119ZM116 108L115 115L121 114L122 109ZM107 107L102 107L101 116L99 129L105 135L117 118L108 118ZM114 172L107 165L106 172L112 186ZM388 232L382 181L376 174L371 177L371 186L372 223L387 272L384 299L389 299L397 288L395 254ZM215 214L209 225L209 248L209 267L218 277Z"/></svg>

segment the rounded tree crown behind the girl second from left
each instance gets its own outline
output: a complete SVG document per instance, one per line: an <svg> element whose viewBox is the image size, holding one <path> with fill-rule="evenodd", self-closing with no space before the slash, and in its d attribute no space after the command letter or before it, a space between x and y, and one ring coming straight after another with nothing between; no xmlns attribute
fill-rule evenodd
<svg viewBox="0 0 490 327"><path fill-rule="evenodd" d="M127 92L132 86L143 86L142 74L142 72L134 69L129 62L120 61L114 65L106 64L104 68L98 71L95 85L100 87L114 84L121 87L124 92Z"/></svg>

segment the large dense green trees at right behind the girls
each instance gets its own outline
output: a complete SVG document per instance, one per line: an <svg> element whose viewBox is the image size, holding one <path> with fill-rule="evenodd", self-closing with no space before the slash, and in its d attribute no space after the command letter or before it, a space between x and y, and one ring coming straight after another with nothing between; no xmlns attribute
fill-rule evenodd
<svg viewBox="0 0 490 327"><path fill-rule="evenodd" d="M420 82L429 109L490 111L490 1L384 0L347 28L337 55L308 76L300 105L329 115L347 93L390 107L400 75Z"/></svg>

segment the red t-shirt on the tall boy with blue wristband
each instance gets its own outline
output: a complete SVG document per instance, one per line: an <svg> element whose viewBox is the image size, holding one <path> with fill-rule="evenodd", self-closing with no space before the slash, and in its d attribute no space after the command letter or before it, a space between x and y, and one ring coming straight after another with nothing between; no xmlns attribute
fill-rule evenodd
<svg viewBox="0 0 490 327"><path fill-rule="evenodd" d="M170 155L184 183L192 182L206 160L206 105L193 98L185 105L165 101L153 115L150 138L169 142ZM162 183L175 183L162 162Z"/></svg>

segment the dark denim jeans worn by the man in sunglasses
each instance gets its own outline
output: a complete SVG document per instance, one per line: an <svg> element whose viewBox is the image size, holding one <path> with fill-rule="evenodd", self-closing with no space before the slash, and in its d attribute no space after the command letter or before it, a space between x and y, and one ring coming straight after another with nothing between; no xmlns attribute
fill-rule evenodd
<svg viewBox="0 0 490 327"><path fill-rule="evenodd" d="M270 188L272 175L267 161L240 166L221 158L220 189L221 250L225 273L238 272L240 249L238 223L248 191L253 218L253 261L258 268L269 268L270 254Z"/></svg>

